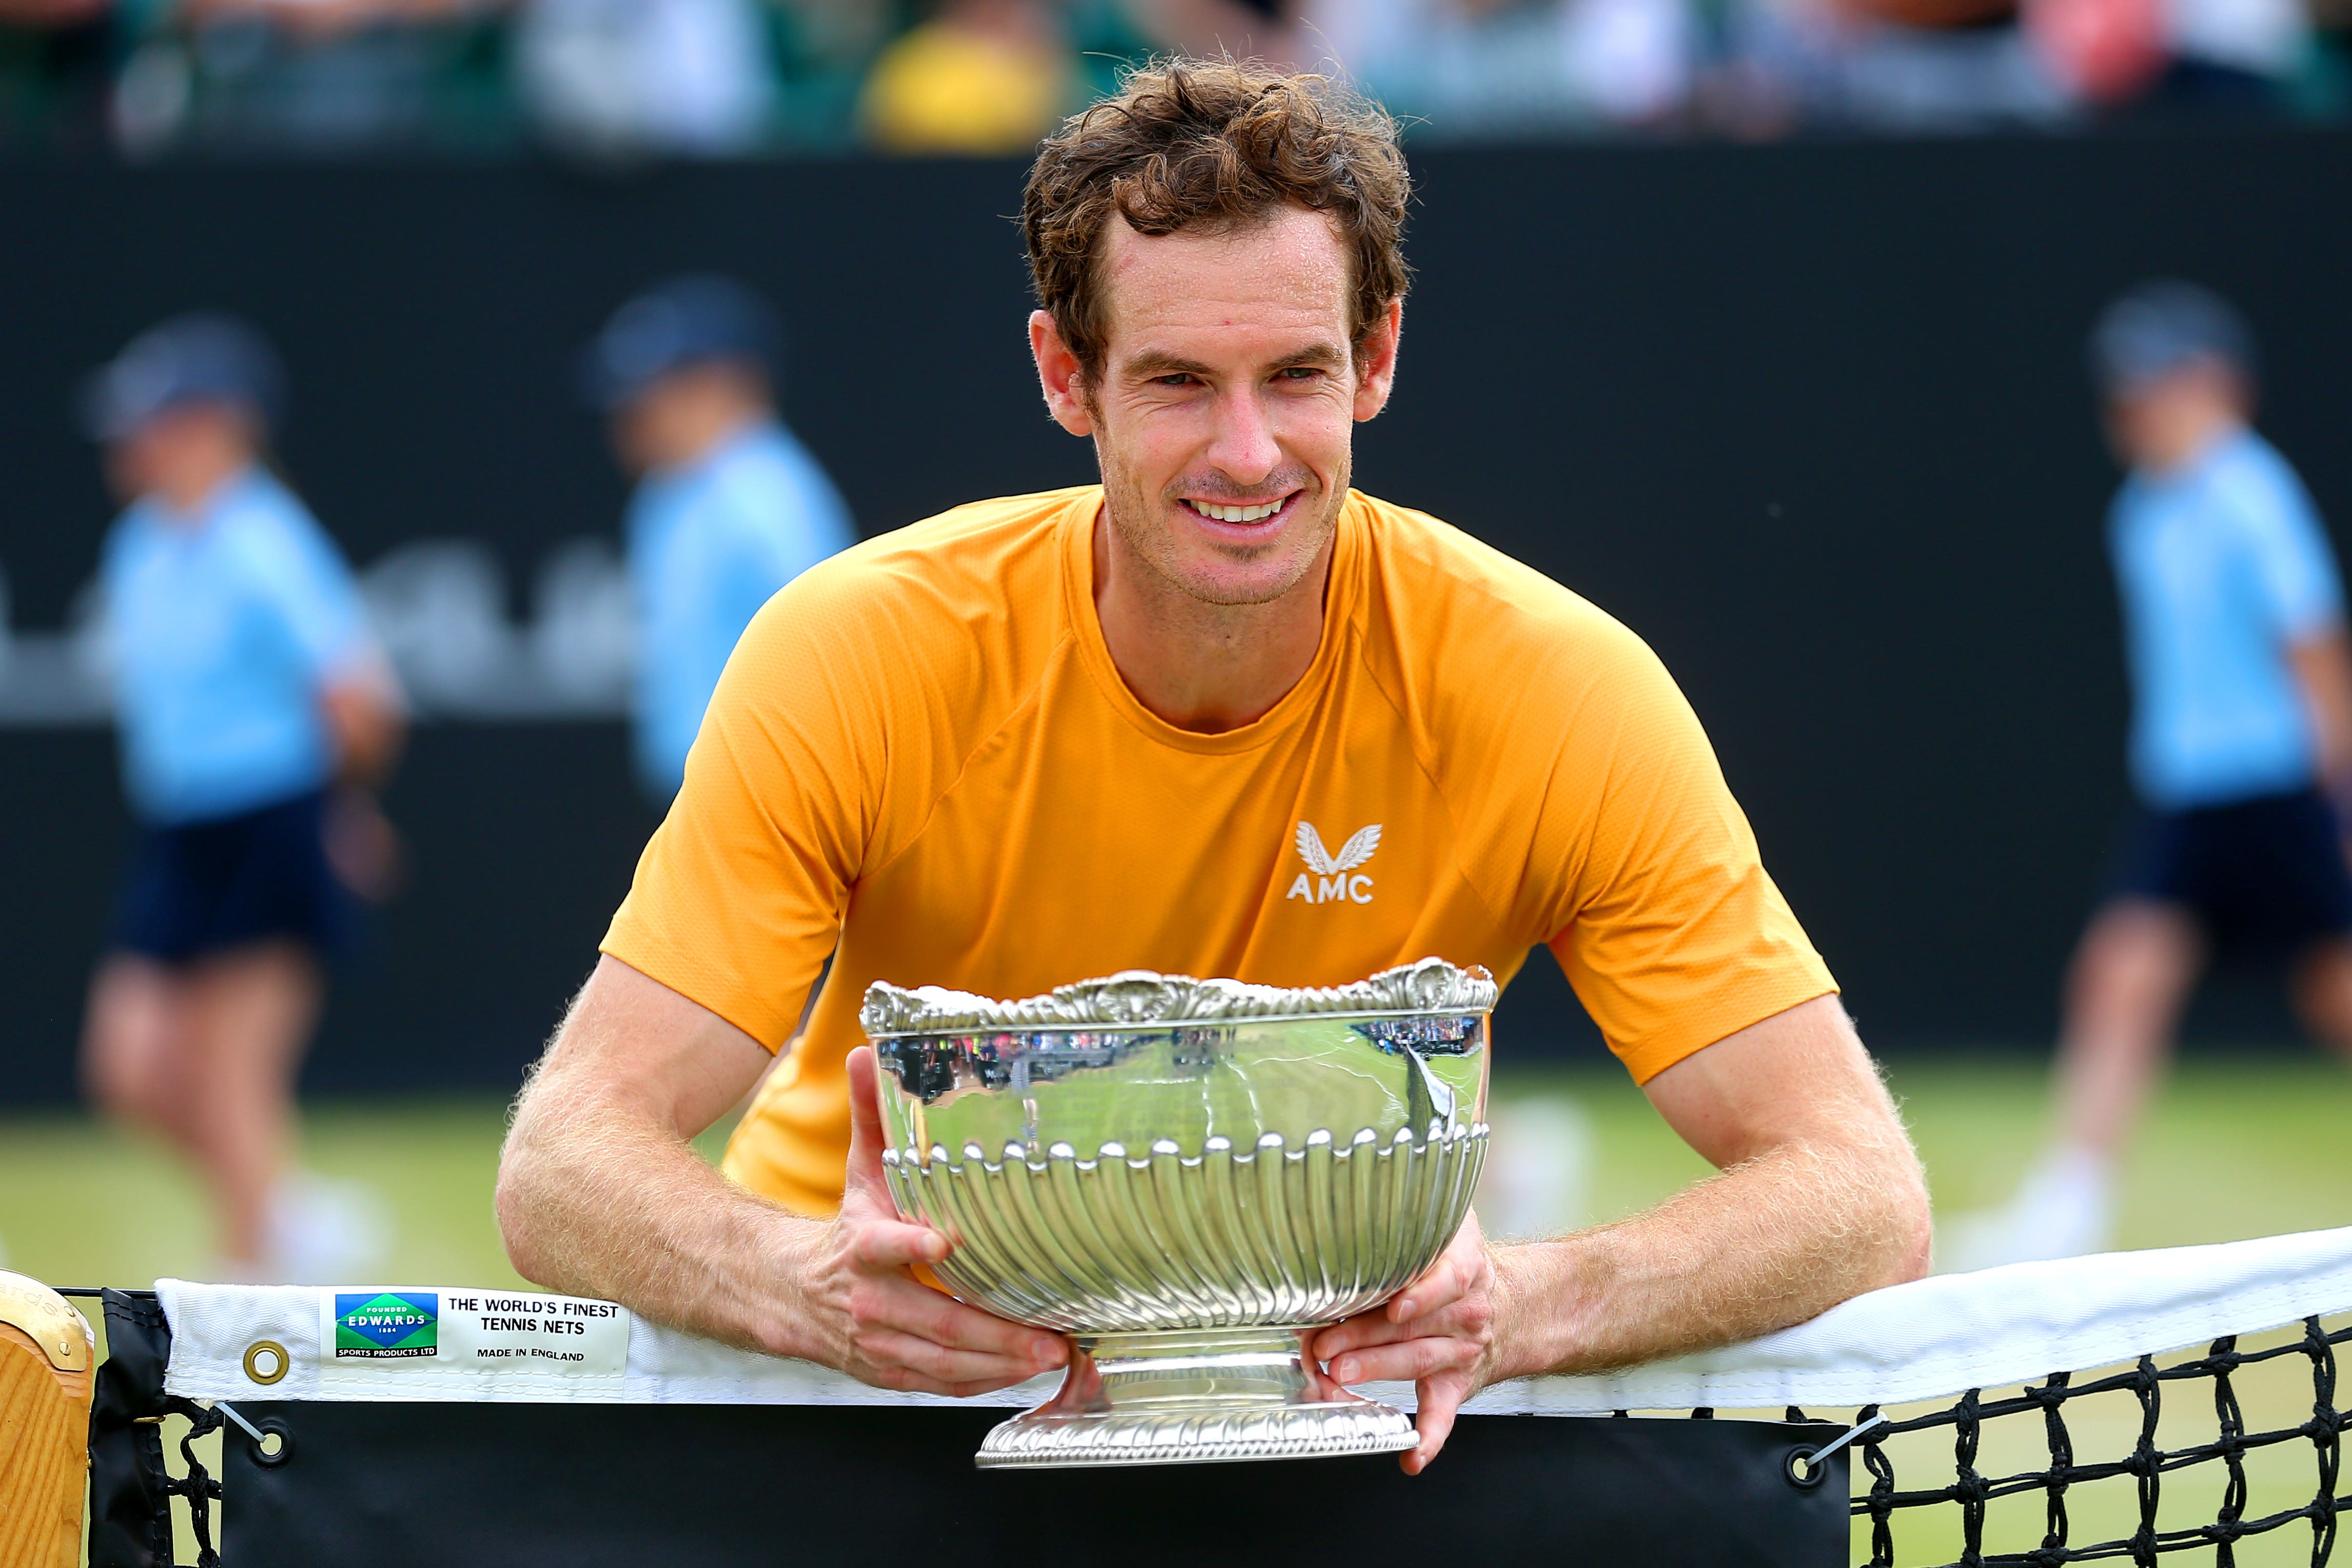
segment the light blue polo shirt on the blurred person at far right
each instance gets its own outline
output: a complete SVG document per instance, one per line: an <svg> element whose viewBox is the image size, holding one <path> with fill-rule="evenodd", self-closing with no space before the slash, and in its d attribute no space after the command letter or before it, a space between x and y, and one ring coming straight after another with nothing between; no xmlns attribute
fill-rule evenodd
<svg viewBox="0 0 2352 1568"><path fill-rule="evenodd" d="M2107 517L2131 658L2131 780L2159 811L2317 780L2296 642L2343 621L2336 552L2296 470L2253 430L2136 473Z"/></svg>

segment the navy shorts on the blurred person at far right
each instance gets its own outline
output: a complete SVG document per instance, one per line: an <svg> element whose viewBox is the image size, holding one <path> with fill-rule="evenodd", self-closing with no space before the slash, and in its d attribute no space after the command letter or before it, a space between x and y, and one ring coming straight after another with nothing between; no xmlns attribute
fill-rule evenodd
<svg viewBox="0 0 2352 1568"><path fill-rule="evenodd" d="M2185 905L2223 950L2296 950L2352 933L2343 827L2319 790L2147 811L2107 896Z"/></svg>

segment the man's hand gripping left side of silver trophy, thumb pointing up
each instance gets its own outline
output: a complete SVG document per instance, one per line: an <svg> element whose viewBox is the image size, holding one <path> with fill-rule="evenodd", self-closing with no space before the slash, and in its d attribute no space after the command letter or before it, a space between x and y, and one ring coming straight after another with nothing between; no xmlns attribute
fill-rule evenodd
<svg viewBox="0 0 2352 1568"><path fill-rule="evenodd" d="M800 1260L807 1324L818 1347L800 1352L858 1382L920 1394L985 1394L1063 1366L1070 1345L967 1307L915 1279L948 1258L948 1239L898 1218L882 1178L875 1053L849 1053L849 1175L842 1211Z"/></svg>

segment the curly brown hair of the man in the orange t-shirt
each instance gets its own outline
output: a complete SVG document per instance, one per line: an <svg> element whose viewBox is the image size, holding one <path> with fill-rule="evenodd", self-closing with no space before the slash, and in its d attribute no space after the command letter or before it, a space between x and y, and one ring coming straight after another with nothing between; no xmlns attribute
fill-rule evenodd
<svg viewBox="0 0 2352 1568"><path fill-rule="evenodd" d="M1230 230L1284 202L1324 212L1348 244L1357 348L1404 296L1411 176L1397 122L1336 78L1263 61L1162 59L1047 139L1021 197L1037 303L1087 381L1103 367L1103 233Z"/></svg>

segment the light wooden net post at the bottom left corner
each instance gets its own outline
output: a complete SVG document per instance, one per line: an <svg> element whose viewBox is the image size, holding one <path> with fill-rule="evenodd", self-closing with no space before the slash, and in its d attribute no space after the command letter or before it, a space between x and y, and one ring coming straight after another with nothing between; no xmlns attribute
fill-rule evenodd
<svg viewBox="0 0 2352 1568"><path fill-rule="evenodd" d="M56 1291L0 1269L0 1563L75 1568L96 1342Z"/></svg>

